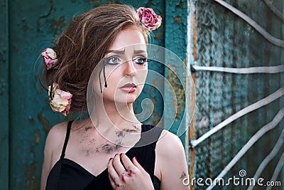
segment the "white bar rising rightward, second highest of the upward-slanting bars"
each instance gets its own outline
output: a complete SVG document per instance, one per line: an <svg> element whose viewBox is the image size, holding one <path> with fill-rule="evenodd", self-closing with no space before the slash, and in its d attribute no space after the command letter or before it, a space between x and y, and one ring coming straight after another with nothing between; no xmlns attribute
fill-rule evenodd
<svg viewBox="0 0 284 190"><path fill-rule="evenodd" d="M253 146L253 144L256 141L258 141L258 139L260 139L263 136L263 134L266 134L266 132L273 130L273 128L275 128L279 124L279 122L283 119L283 117L284 117L284 107L282 107L282 109L277 113L277 115L273 118L271 122L261 127L261 129L258 130L256 134L253 134L253 137L251 137L249 141L246 142L246 144L244 144L244 147L242 147L241 150L236 154L236 156L233 159L231 159L231 162L229 162L229 164L227 164L226 167L224 167L224 169L220 172L220 174L216 178L224 177L224 175L232 167L234 167L236 162L238 162L239 159L241 159L241 157L244 156L244 154ZM207 190L212 189L214 186L215 184L212 184L207 188Z"/></svg>

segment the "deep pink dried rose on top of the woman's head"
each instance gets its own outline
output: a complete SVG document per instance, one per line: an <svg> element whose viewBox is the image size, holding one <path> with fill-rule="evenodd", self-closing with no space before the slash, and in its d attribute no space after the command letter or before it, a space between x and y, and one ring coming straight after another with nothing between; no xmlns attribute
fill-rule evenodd
<svg viewBox="0 0 284 190"><path fill-rule="evenodd" d="M156 15L153 9L140 7L137 11L142 25L147 28L148 31L153 31L160 27L162 17Z"/></svg>

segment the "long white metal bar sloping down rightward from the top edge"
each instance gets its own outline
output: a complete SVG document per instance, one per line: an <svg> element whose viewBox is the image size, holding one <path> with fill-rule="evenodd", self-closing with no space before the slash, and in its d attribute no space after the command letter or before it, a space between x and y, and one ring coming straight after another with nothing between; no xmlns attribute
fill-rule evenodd
<svg viewBox="0 0 284 190"><path fill-rule="evenodd" d="M239 9L236 9L234 6L231 6L230 4L226 3L225 1L222 1L222 0L214 0L214 1L221 4L222 6L226 7L226 9L229 9L234 14L239 16L241 19L244 19L244 21L246 21L251 26L253 26L253 28L255 28L256 31L258 31L259 33L261 33L261 35L264 38L266 38L268 41L275 44L276 46L280 46L281 48L284 48L284 41L283 40L281 40L279 38L275 38L274 36L272 36L264 28L262 28L258 23L256 23L256 21L253 21L253 19L251 19L251 17L247 16L243 12L239 11Z"/></svg>

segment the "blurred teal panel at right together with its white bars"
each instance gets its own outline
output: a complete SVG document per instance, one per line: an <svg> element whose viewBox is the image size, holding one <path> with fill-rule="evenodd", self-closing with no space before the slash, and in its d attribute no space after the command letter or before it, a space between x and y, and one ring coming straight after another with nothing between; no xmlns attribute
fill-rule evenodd
<svg viewBox="0 0 284 190"><path fill-rule="evenodd" d="M283 2L190 1L192 176L228 179L246 171L244 178L283 186Z"/></svg>

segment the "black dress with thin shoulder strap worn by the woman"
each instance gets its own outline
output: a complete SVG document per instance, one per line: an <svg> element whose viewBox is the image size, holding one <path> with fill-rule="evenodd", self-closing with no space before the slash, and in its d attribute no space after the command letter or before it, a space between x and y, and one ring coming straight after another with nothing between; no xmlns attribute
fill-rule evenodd
<svg viewBox="0 0 284 190"><path fill-rule="evenodd" d="M94 189L112 189L109 181L107 169L97 176L89 173L80 164L73 162L65 157L65 149L70 135L72 121L68 122L65 142L62 148L62 154L58 162L55 163L48 175L46 190L94 190ZM141 125L141 138L134 147L126 152L126 155L132 159L136 157L139 164L151 176L155 189L160 189L160 180L154 175L155 169L155 144L160 137L162 128L153 125ZM149 142L149 143L147 143ZM147 144L141 146L143 144Z"/></svg>

